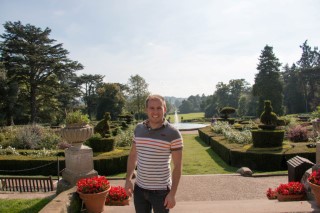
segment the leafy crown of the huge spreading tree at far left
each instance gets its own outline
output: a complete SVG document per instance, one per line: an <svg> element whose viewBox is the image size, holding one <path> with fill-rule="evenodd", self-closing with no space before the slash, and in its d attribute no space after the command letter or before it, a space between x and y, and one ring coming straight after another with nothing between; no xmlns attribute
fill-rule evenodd
<svg viewBox="0 0 320 213"><path fill-rule="evenodd" d="M50 115L74 101L78 90L73 77L83 66L70 60L62 44L49 38L51 30L23 25L20 21L6 22L4 28L5 33L0 36L4 39L0 46L1 61L9 81L17 82L19 88L18 97L11 104L20 105L14 108L14 115L6 111L7 116L21 119L26 113L30 115L29 121L35 123L38 113Z"/></svg>

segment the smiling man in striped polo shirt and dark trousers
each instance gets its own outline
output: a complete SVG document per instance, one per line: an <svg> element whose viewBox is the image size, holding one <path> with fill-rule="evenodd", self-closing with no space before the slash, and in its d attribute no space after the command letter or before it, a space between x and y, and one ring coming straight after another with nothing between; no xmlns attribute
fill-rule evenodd
<svg viewBox="0 0 320 213"><path fill-rule="evenodd" d="M125 189L134 195L137 213L169 212L176 205L175 195L182 172L183 140L164 115L166 103L160 95L146 100L148 119L139 123L127 163ZM170 161L173 161L171 175ZM133 186L132 175L137 166Z"/></svg>

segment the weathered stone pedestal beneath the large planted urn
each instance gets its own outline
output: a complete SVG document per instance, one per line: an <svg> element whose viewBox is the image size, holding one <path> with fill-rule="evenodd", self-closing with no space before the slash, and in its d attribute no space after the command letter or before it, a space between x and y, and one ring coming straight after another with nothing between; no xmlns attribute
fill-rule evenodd
<svg viewBox="0 0 320 213"><path fill-rule="evenodd" d="M62 178L71 185L76 185L81 178L97 176L98 172L93 169L92 149L82 145L70 147L65 151L66 168L62 172Z"/></svg>

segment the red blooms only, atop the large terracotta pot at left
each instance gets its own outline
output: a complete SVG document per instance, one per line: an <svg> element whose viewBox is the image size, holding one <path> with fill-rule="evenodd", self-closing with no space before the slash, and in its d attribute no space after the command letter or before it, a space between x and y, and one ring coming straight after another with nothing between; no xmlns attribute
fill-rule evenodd
<svg viewBox="0 0 320 213"><path fill-rule="evenodd" d="M77 191L83 194L95 194L106 191L110 188L110 183L104 176L83 178L77 182Z"/></svg>

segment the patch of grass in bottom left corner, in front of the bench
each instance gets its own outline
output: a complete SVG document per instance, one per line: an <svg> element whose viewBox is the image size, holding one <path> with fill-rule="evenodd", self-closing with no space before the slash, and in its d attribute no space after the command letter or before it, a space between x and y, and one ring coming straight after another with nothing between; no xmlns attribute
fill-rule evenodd
<svg viewBox="0 0 320 213"><path fill-rule="evenodd" d="M0 212L37 213L51 201L44 199L4 199L0 200Z"/></svg>

